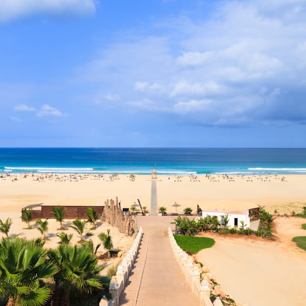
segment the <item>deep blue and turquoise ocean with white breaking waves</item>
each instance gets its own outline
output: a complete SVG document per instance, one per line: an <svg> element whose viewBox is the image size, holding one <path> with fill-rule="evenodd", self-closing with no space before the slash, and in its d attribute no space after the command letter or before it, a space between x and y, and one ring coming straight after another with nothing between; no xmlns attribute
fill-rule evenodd
<svg viewBox="0 0 306 306"><path fill-rule="evenodd" d="M305 148L0 148L0 173L305 174Z"/></svg>

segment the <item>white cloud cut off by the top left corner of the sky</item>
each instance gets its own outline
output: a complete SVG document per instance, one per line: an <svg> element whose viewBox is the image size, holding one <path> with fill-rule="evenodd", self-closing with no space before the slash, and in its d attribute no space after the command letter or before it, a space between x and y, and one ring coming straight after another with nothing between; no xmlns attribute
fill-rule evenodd
<svg viewBox="0 0 306 306"><path fill-rule="evenodd" d="M35 14L91 14L93 0L1 0L0 22Z"/></svg>

